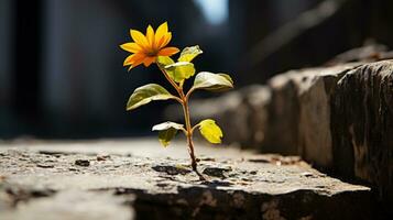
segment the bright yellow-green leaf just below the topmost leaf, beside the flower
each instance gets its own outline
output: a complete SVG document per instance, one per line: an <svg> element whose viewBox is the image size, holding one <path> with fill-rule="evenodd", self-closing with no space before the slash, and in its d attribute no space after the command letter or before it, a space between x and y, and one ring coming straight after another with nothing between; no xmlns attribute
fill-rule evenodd
<svg viewBox="0 0 393 220"><path fill-rule="evenodd" d="M165 70L176 82L183 82L195 74L194 64L189 62L177 62L167 65L165 66Z"/></svg>

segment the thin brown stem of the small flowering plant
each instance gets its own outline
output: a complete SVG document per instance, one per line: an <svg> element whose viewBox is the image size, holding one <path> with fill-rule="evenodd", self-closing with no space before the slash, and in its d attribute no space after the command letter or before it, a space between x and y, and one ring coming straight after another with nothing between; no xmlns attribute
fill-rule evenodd
<svg viewBox="0 0 393 220"><path fill-rule="evenodd" d="M206 180L204 175L201 175L197 169L197 160L196 160L195 153L194 153L193 127L192 127L192 122L190 122L190 118L189 118L189 108L188 108L188 97L189 97L190 92L185 95L183 91L183 88L179 87L174 80L172 80L172 78L167 75L167 73L164 69L160 68L160 70L164 74L165 78L170 81L170 84L176 89L176 91L182 100L181 103L183 107L184 121L186 123L185 134L187 138L189 157L192 158L192 167L193 167L193 170L199 176L200 180Z"/></svg>

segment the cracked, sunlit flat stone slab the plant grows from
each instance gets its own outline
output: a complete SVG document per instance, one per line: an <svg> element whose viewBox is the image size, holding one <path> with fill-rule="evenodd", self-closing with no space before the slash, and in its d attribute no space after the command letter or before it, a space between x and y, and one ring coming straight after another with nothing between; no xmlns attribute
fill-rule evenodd
<svg viewBox="0 0 393 220"><path fill-rule="evenodd" d="M132 208L138 219L380 217L368 187L328 177L298 157L197 144L208 177L200 182L182 143L3 145L0 219L36 219L43 211L46 219L131 219Z"/></svg>

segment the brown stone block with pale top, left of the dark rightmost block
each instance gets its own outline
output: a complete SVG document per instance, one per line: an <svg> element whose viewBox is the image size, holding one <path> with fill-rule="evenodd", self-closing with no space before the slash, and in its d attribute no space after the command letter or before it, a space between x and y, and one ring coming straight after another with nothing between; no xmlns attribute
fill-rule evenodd
<svg viewBox="0 0 393 220"><path fill-rule="evenodd" d="M263 151L298 154L318 166L332 161L330 99L337 81L359 64L292 70L270 80L269 135Z"/></svg>

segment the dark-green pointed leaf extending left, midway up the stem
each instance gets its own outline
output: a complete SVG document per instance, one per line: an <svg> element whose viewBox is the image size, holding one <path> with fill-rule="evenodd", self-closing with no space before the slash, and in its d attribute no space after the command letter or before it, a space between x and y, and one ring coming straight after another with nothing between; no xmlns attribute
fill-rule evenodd
<svg viewBox="0 0 393 220"><path fill-rule="evenodd" d="M140 106L146 105L154 100L167 100L174 99L164 87L156 84L148 84L145 86L137 88L127 102L127 110L137 109Z"/></svg>

